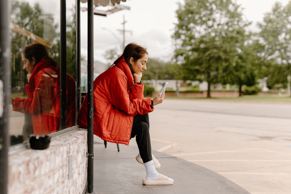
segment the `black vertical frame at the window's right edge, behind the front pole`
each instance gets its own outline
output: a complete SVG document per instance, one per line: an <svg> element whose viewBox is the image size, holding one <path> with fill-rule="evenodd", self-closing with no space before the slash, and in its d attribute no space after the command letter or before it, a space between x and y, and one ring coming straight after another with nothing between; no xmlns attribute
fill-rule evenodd
<svg viewBox="0 0 291 194"><path fill-rule="evenodd" d="M81 108L81 28L80 28L80 0L76 0L76 84L77 84L77 114Z"/></svg>

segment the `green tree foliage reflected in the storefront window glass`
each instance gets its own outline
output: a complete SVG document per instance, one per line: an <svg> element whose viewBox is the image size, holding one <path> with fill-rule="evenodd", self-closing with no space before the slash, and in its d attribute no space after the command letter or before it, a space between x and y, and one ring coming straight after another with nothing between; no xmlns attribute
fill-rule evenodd
<svg viewBox="0 0 291 194"><path fill-rule="evenodd" d="M38 3L33 7L28 2L11 0L11 20L23 29L52 43L48 47L49 55L60 63L60 33L57 32L58 24L54 22L54 15L44 13ZM76 14L75 8L71 10L72 17L67 14L67 72L75 78L76 76ZM12 68L11 85L15 87L17 82L26 81L20 53L22 48L34 42L17 32L11 31L11 52L15 56L15 67ZM17 75L21 75L21 77Z"/></svg>

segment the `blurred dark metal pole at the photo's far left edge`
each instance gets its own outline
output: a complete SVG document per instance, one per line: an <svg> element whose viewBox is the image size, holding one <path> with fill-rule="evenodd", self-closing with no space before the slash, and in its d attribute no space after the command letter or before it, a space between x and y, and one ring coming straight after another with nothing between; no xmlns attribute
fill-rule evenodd
<svg viewBox="0 0 291 194"><path fill-rule="evenodd" d="M8 119L10 84L10 36L8 0L0 1L0 194L8 193ZM3 87L3 88L2 88Z"/></svg>

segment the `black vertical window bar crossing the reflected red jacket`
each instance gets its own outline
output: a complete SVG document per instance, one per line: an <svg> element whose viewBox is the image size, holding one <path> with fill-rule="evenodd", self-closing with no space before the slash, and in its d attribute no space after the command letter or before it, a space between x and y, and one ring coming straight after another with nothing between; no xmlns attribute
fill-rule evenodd
<svg viewBox="0 0 291 194"><path fill-rule="evenodd" d="M61 0L61 37L60 37L60 129L67 128L67 24L66 0Z"/></svg>

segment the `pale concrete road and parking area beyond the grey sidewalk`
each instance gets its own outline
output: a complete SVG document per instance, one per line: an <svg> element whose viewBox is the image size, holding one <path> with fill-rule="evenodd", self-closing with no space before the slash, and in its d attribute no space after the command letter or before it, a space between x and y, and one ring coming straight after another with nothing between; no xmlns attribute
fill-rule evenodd
<svg viewBox="0 0 291 194"><path fill-rule="evenodd" d="M165 99L150 113L150 133L153 150L253 194L291 194L291 103Z"/></svg>

